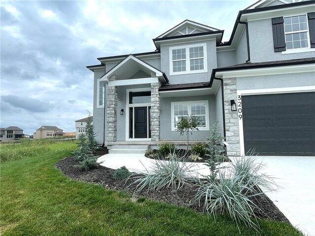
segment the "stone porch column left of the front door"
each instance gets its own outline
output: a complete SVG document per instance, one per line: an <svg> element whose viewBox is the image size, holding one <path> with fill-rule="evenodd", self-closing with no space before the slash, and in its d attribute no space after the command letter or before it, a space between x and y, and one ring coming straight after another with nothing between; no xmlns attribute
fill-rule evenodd
<svg viewBox="0 0 315 236"><path fill-rule="evenodd" d="M108 80L115 81L116 75L111 76ZM117 141L117 87L108 86L107 89L107 142Z"/></svg>

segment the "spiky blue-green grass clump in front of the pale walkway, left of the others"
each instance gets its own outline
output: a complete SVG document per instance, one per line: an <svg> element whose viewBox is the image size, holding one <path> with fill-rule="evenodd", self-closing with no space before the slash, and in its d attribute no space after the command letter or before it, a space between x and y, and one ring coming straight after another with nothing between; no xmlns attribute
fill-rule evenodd
<svg viewBox="0 0 315 236"><path fill-rule="evenodd" d="M167 188L176 191L184 185L190 184L194 181L193 174L196 168L194 168L195 164L187 165L187 159L187 157L178 157L171 158L169 161L156 160L151 171L146 170L141 173L141 176L133 174L131 177L135 179L132 183L136 185L135 193Z"/></svg>

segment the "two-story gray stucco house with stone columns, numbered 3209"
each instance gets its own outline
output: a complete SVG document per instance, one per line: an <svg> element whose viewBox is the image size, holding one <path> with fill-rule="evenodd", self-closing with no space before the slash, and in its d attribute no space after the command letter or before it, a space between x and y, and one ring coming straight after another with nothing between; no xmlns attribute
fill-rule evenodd
<svg viewBox="0 0 315 236"><path fill-rule="evenodd" d="M179 144L176 120L195 115L192 139L218 120L228 155L315 155L315 1L257 1L222 35L185 20L153 39L155 51L87 66L97 142Z"/></svg>

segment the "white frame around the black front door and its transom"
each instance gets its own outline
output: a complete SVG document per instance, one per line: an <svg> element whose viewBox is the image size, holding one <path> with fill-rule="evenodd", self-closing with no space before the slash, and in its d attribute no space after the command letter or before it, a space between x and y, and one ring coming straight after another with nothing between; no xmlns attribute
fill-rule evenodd
<svg viewBox="0 0 315 236"><path fill-rule="evenodd" d="M141 88L141 89L126 89L126 141L151 141L151 138L144 138L144 139L138 139L138 138L129 138L129 108L130 107L151 107L151 103L133 103L129 104L129 92L143 92L143 91L151 91L151 88ZM134 115L134 114L133 114ZM134 118L133 120L133 125L134 125ZM149 128L149 123L148 123L148 130ZM149 132L149 131L148 131ZM149 133L148 133L149 137Z"/></svg>

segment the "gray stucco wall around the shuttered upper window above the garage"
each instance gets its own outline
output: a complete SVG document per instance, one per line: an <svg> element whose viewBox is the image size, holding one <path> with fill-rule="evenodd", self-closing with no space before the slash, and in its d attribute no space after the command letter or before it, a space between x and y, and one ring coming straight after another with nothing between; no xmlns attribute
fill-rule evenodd
<svg viewBox="0 0 315 236"><path fill-rule="evenodd" d="M290 54L274 52L271 19L250 21L248 22L248 27L250 35L250 52L252 62L315 57L315 51Z"/></svg>

